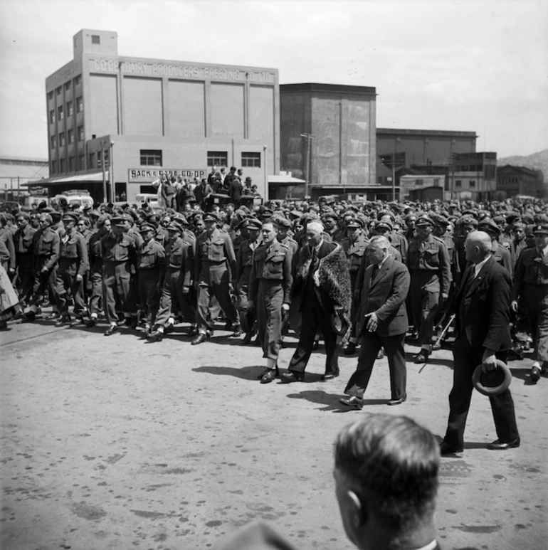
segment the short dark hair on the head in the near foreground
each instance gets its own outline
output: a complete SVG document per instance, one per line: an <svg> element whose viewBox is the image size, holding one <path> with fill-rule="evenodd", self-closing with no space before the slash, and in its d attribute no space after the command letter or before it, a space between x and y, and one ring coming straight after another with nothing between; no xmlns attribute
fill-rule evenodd
<svg viewBox="0 0 548 550"><path fill-rule="evenodd" d="M406 416L370 415L337 436L335 467L386 525L404 531L434 512L439 445Z"/></svg>

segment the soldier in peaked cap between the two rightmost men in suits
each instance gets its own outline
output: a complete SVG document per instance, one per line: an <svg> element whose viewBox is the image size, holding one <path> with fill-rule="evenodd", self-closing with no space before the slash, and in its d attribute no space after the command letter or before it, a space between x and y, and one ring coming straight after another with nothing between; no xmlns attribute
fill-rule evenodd
<svg viewBox="0 0 548 550"><path fill-rule="evenodd" d="M407 267L411 274L409 303L413 322L418 331L417 342L421 351L416 363L426 363L432 352L432 335L440 299L449 297L451 266L447 247L441 238L432 234L433 221L421 216L416 221L416 238L407 252Z"/></svg>

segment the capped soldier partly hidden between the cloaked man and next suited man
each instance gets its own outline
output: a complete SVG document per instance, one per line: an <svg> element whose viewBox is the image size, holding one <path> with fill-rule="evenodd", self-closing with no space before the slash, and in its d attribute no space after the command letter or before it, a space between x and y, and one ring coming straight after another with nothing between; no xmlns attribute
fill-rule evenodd
<svg viewBox="0 0 548 550"><path fill-rule="evenodd" d="M369 241L365 238L363 233L364 223L358 218L351 218L347 222L347 238L345 238L341 245L348 258L348 270L350 273L350 287L352 289L352 310L350 318L352 320L352 327L350 327L350 334L348 345L344 349L344 355L354 355L356 352L356 344L358 343L357 334L357 314L360 304L360 292L356 287L356 281L358 278L359 266L364 258L367 244Z"/></svg>

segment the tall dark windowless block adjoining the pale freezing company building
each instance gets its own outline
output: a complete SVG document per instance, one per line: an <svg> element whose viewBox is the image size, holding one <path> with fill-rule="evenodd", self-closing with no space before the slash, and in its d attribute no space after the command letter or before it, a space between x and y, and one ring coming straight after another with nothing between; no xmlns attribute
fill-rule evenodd
<svg viewBox="0 0 548 550"><path fill-rule="evenodd" d="M280 85L280 168L308 182L293 196L366 194L375 184L375 88ZM283 199L286 189L278 186Z"/></svg>

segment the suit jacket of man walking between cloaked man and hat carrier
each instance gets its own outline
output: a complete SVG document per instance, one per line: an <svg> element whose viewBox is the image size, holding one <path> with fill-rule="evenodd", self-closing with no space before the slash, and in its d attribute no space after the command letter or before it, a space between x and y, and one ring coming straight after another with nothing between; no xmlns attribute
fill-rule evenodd
<svg viewBox="0 0 548 550"><path fill-rule="evenodd" d="M360 305L359 334L367 327L366 314L374 312L379 319L376 333L379 336L404 334L409 329L405 300L409 292L411 277L409 270L401 262L389 256L379 268L372 281L373 269L369 265L365 270Z"/></svg>

